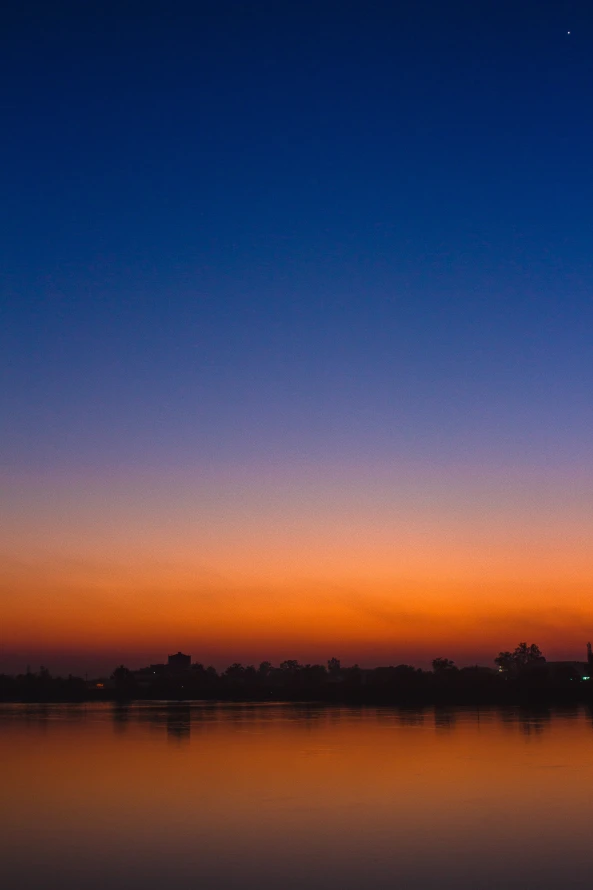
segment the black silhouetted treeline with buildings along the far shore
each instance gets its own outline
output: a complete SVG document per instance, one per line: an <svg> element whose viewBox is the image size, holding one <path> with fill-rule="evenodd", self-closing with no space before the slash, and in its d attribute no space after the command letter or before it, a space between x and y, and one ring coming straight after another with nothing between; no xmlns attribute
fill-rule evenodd
<svg viewBox="0 0 593 890"><path fill-rule="evenodd" d="M181 653L179 653L181 654ZM188 656L182 656L188 659ZM17 676L0 675L2 701L110 701L195 699L229 701L325 701L365 703L487 704L522 701L590 701L593 680L587 662L546 662L539 648L520 643L494 659L497 669L458 668L435 658L432 670L408 664L363 669L283 661L274 666L239 663L217 671L200 663L183 668L153 665L117 667L105 680L52 677L46 668ZM590 667L590 665L589 665Z"/></svg>

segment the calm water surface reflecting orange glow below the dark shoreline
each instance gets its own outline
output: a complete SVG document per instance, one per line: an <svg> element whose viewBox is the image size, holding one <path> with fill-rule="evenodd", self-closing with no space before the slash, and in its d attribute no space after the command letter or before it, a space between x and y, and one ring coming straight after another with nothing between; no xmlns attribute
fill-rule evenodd
<svg viewBox="0 0 593 890"><path fill-rule="evenodd" d="M0 705L3 886L590 887L584 709Z"/></svg>

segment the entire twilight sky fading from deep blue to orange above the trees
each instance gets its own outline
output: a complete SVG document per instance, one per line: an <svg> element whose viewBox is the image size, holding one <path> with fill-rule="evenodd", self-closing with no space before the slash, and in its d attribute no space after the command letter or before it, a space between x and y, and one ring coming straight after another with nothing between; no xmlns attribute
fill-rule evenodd
<svg viewBox="0 0 593 890"><path fill-rule="evenodd" d="M0 670L593 637L589 2L0 11Z"/></svg>

